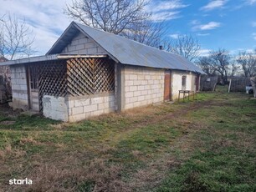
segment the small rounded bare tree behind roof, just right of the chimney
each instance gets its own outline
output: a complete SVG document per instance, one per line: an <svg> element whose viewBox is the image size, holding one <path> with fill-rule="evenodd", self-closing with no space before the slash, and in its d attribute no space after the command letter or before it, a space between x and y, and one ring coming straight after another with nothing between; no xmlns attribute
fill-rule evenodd
<svg viewBox="0 0 256 192"><path fill-rule="evenodd" d="M192 35L179 35L176 41L170 43L167 50L193 61L199 55L200 44Z"/></svg>

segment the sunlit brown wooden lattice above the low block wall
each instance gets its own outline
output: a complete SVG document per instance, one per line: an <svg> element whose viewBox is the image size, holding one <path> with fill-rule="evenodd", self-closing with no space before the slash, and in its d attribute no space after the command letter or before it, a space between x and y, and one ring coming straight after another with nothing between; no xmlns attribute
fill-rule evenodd
<svg viewBox="0 0 256 192"><path fill-rule="evenodd" d="M109 58L71 58L67 69L68 93L72 96L115 89L115 64Z"/></svg>

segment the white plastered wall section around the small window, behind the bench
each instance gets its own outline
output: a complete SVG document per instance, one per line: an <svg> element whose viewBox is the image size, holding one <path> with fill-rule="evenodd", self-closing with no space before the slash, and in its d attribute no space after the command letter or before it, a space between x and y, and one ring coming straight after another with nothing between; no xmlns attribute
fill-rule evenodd
<svg viewBox="0 0 256 192"><path fill-rule="evenodd" d="M178 99L179 90L182 90L182 76L187 76L186 78L186 90L191 90L196 92L196 73L185 72L185 71L172 71L171 87L172 87L172 100ZM187 95L186 95L187 96ZM183 94L181 94L181 98Z"/></svg>

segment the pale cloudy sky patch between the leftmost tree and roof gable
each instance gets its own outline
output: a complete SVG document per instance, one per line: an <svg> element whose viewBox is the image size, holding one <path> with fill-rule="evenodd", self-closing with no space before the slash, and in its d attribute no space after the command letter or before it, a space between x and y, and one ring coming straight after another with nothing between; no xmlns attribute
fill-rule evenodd
<svg viewBox="0 0 256 192"><path fill-rule="evenodd" d="M18 19L25 19L35 36L33 46L37 54L46 53L59 35L68 27L70 21L64 15L65 3L72 0L0 0L0 16L5 13L15 14Z"/></svg>

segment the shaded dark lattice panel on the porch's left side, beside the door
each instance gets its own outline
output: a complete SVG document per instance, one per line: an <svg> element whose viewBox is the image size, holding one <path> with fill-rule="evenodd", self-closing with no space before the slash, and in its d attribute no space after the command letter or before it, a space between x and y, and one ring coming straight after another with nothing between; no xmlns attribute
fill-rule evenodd
<svg viewBox="0 0 256 192"><path fill-rule="evenodd" d="M67 94L66 61L54 61L38 65L39 109L43 110L45 94L65 96Z"/></svg>

